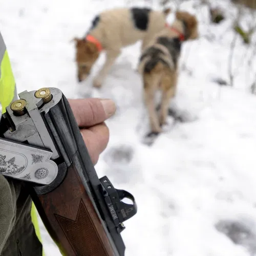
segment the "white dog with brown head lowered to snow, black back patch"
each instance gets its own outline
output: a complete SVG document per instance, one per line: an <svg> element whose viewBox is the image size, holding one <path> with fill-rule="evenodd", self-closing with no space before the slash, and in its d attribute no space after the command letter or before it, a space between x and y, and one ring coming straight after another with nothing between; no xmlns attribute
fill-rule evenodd
<svg viewBox="0 0 256 256"><path fill-rule="evenodd" d="M85 80L102 50L106 61L93 81L100 88L121 48L142 40L142 50L154 35L162 30L170 9L155 11L148 8L116 8L95 16L83 38L75 37L78 82Z"/></svg>

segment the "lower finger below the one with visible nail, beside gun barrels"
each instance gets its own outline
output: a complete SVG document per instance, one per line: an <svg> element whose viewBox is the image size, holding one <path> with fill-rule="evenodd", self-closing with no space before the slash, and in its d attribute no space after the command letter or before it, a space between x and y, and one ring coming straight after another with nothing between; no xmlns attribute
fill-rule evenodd
<svg viewBox="0 0 256 256"><path fill-rule="evenodd" d="M81 134L95 165L98 162L99 155L108 145L110 137L109 128L104 123L101 123L89 129L81 129Z"/></svg>

